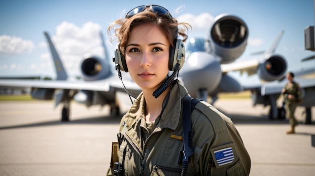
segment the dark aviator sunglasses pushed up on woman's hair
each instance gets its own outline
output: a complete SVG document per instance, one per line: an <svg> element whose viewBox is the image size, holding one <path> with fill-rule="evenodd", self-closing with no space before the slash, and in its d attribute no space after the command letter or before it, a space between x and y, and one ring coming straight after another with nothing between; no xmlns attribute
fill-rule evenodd
<svg viewBox="0 0 315 176"><path fill-rule="evenodd" d="M129 19L130 17L132 17L132 16L134 16L140 12L143 12L144 9L146 9L147 7L150 7L152 9L153 13L155 13L159 16L165 16L173 22L173 17L170 14L170 12L167 9L165 9L164 7L157 6L157 5L138 6L127 13L126 19Z"/></svg>

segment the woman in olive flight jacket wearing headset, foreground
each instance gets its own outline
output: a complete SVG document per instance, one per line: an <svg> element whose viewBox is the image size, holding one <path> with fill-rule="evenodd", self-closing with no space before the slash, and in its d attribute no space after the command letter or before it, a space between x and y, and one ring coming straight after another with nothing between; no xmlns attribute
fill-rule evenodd
<svg viewBox="0 0 315 176"><path fill-rule="evenodd" d="M203 101L191 113L193 155L188 169L183 169L182 107L189 95L174 75L184 64L182 42L189 28L156 5L136 7L110 25L109 34L114 32L119 41L116 68L129 72L142 92L122 117L116 164L122 167L111 165L109 175L114 169L123 175L249 174L250 157L237 129ZM174 72L168 76L170 70ZM229 155L222 156L223 150Z"/></svg>

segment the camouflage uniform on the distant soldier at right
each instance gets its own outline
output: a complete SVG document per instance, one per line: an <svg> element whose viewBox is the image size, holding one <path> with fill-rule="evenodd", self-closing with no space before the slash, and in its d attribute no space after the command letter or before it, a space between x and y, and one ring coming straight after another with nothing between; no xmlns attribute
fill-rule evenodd
<svg viewBox="0 0 315 176"><path fill-rule="evenodd" d="M298 122L296 121L294 117L294 112L295 112L296 106L298 105L296 101L297 101L297 96L298 96L297 93L298 93L299 86L297 83L293 81L290 86L289 86L289 83L286 83L284 86L284 89L285 89L285 92L283 93L283 98L286 105L287 117L289 118L289 123L291 124L291 126L296 126ZM289 94L293 96L292 99L288 98Z"/></svg>

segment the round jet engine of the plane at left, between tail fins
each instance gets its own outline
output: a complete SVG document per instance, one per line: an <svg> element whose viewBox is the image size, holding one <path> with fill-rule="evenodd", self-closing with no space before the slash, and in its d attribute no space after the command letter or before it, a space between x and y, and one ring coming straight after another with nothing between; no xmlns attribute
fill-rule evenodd
<svg viewBox="0 0 315 176"><path fill-rule="evenodd" d="M105 79L111 75L108 62L99 57L87 57L81 64L81 72L85 81Z"/></svg>

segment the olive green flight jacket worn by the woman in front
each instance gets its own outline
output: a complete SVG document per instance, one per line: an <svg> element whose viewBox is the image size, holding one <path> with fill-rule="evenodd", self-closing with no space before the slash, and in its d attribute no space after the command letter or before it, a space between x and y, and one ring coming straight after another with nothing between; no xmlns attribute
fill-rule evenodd
<svg viewBox="0 0 315 176"><path fill-rule="evenodd" d="M120 123L124 138L119 162L124 175L181 175L182 103L187 95L185 87L174 85L151 134L144 119L143 94L138 96ZM249 175L250 156L230 118L204 101L196 104L191 118L194 153L186 175Z"/></svg>

